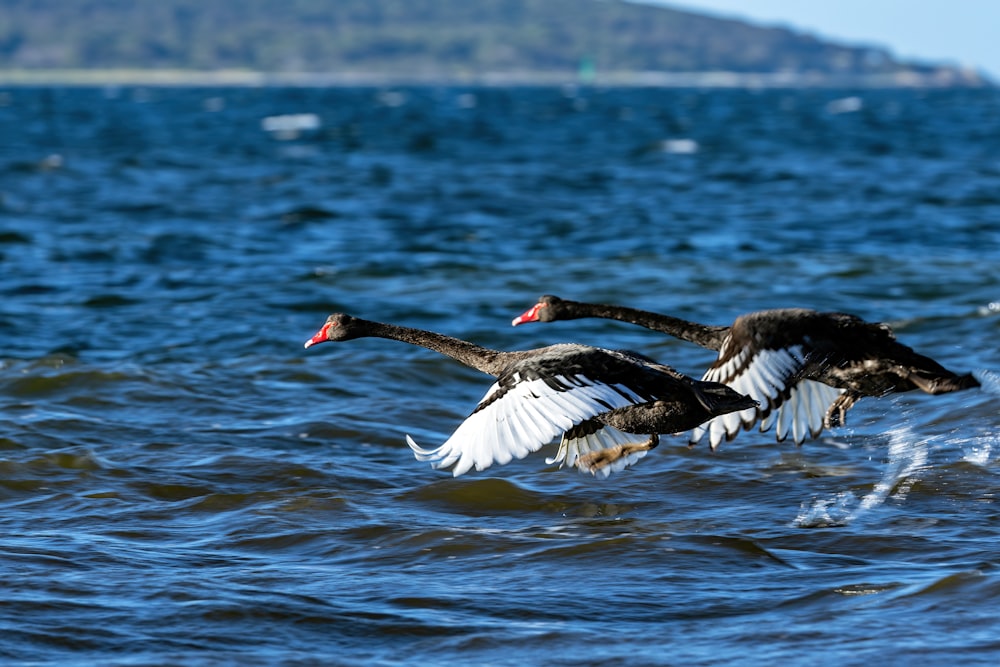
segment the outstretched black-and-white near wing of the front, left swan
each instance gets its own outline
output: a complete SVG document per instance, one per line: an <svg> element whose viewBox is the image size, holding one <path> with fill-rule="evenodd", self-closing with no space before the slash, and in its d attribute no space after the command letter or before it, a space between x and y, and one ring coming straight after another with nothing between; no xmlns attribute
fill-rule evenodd
<svg viewBox="0 0 1000 667"><path fill-rule="evenodd" d="M557 348L559 346L556 346ZM418 461L454 476L538 451L575 425L617 408L653 400L650 377L620 355L585 348L525 359L502 373L448 440L425 449L407 436Z"/></svg>

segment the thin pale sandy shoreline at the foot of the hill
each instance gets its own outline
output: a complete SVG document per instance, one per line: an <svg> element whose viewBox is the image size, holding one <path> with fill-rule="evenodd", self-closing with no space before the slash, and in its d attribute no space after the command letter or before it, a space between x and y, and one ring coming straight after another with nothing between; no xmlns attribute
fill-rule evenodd
<svg viewBox="0 0 1000 667"><path fill-rule="evenodd" d="M0 69L0 86L366 87L563 86L649 88L989 88L974 70L843 75L824 72L257 72L179 69Z"/></svg>

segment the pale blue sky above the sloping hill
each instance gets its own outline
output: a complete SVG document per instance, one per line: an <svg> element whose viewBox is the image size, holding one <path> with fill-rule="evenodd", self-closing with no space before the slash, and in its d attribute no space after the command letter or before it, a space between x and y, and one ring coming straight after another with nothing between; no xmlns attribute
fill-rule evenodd
<svg viewBox="0 0 1000 667"><path fill-rule="evenodd" d="M641 0L790 27L901 59L963 65L1000 81L1000 0Z"/></svg>

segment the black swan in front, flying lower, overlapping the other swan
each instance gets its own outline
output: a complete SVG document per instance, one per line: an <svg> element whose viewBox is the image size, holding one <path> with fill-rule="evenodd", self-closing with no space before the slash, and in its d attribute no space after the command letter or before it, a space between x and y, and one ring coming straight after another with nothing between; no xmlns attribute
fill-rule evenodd
<svg viewBox="0 0 1000 667"><path fill-rule="evenodd" d="M342 313L330 315L305 346L365 337L419 345L496 378L440 447L424 449L406 437L418 461L454 466L456 477L472 467L523 458L560 434L559 451L549 463L606 477L645 456L659 442L658 434L686 431L757 405L724 384L686 377L633 352L569 343L501 352Z"/></svg>

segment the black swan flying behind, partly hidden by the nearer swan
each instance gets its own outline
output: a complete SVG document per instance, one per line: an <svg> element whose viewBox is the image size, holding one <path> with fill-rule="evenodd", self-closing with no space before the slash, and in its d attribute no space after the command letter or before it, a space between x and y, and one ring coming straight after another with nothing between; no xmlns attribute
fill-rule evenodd
<svg viewBox="0 0 1000 667"><path fill-rule="evenodd" d="M824 427L842 425L863 396L913 389L943 394L979 386L971 374L953 373L899 343L889 325L846 313L762 310L741 315L726 327L545 295L512 324L585 317L631 322L719 351L702 379L727 384L757 400L759 407L715 417L694 429L691 444L708 432L712 449L758 420L761 431L777 424L779 441L791 431L801 444Z"/></svg>

